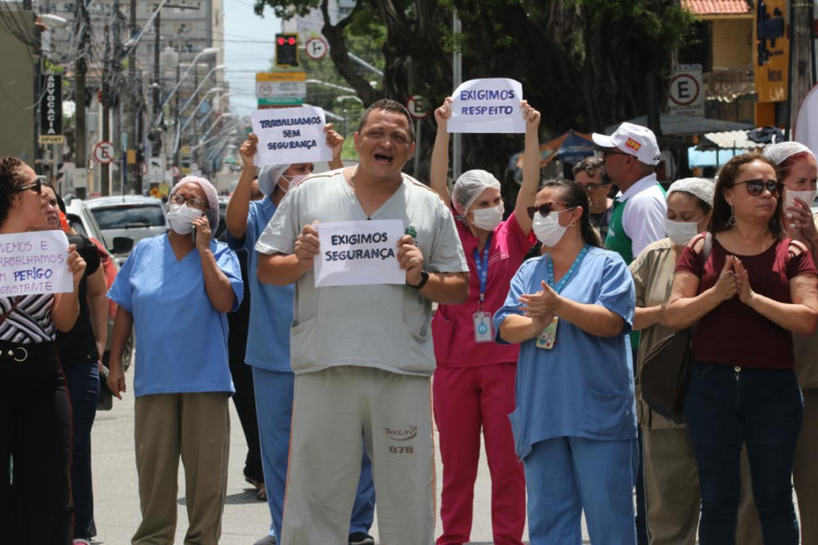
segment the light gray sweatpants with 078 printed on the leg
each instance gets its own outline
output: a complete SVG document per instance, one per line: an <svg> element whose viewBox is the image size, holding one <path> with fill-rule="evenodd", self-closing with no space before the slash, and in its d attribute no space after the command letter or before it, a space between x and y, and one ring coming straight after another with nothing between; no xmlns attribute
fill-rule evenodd
<svg viewBox="0 0 818 545"><path fill-rule="evenodd" d="M433 543L429 377L330 367L296 375L293 396L282 543L347 543L362 435L372 460L381 543Z"/></svg>

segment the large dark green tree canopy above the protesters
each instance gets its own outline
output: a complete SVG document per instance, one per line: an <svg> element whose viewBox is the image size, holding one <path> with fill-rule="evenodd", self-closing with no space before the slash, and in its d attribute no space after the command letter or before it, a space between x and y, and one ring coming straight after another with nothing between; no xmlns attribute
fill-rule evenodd
<svg viewBox="0 0 818 545"><path fill-rule="evenodd" d="M693 23L675 0L358 0L335 24L328 3L255 0L255 10L268 5L291 19L320 9L335 69L364 105L384 96L405 102L414 94L441 104L454 90L452 53L459 50L464 81L519 81L550 134L601 131L646 113L649 93L664 96L672 55ZM454 10L460 33L452 29ZM347 55L356 36L373 35L384 37L384 77L375 87ZM648 90L651 84L657 90ZM434 134L431 117L423 133ZM423 158L428 145L418 152ZM467 135L464 167L503 172L520 147L521 138Z"/></svg>

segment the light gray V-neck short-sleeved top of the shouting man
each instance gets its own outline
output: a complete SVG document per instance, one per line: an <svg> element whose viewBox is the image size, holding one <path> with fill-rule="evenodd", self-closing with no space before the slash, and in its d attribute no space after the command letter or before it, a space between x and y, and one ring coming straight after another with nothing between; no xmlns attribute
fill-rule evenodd
<svg viewBox="0 0 818 545"><path fill-rule="evenodd" d="M366 219L342 170L313 175L281 201L255 250L291 254L308 223ZM425 270L469 270L448 207L411 177L404 174L404 183L369 219L400 219L413 227ZM396 284L315 288L311 270L296 283L292 371L359 365L430 376L434 372L431 319L432 302L416 289Z"/></svg>

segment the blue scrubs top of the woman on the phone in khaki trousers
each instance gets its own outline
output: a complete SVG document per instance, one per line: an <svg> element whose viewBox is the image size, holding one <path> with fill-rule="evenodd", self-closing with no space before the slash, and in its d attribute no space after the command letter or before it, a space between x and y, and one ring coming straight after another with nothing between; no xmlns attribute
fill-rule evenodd
<svg viewBox="0 0 818 545"><path fill-rule="evenodd" d="M243 294L239 259L214 240L210 252L230 280L236 310ZM227 316L207 298L196 250L177 262L167 234L139 241L108 298L133 315L135 397L236 391L227 359Z"/></svg>

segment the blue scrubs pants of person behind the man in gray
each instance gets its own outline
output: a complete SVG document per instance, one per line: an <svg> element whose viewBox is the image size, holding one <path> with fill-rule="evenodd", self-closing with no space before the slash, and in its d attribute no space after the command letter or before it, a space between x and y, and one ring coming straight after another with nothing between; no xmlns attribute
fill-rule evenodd
<svg viewBox="0 0 818 545"><path fill-rule="evenodd" d="M255 412L258 416L258 435L262 444L262 467L264 483L267 487L267 506L273 519L269 533L276 536L281 535L284 493L290 453L293 379L292 373L253 367ZM375 487L372 484L372 462L364 451L349 533L369 533L374 511Z"/></svg>

